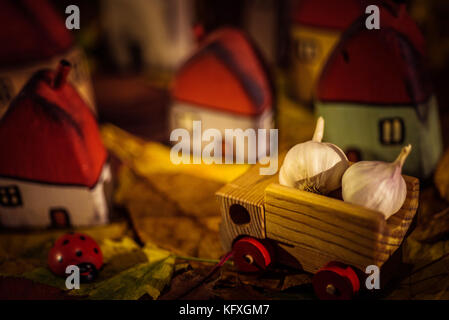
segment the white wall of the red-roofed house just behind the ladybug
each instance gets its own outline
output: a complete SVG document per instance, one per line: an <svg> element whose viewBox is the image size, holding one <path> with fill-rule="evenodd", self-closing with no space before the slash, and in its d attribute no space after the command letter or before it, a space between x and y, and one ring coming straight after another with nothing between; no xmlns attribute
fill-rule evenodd
<svg viewBox="0 0 449 320"><path fill-rule="evenodd" d="M100 179L93 188L41 184L0 178L0 187L17 186L22 205L0 205L0 225L4 227L48 227L50 210L65 209L72 226L100 225L108 222L108 206L104 184L111 179L108 164L103 167Z"/></svg>

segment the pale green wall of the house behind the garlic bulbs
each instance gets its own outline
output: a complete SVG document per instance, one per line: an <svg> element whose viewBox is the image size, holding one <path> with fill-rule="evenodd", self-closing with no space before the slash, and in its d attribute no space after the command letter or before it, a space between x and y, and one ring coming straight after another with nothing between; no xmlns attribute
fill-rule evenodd
<svg viewBox="0 0 449 320"><path fill-rule="evenodd" d="M412 152L405 162L405 174L428 177L442 153L441 129L435 98L428 102L428 118L418 120L415 108L398 106L368 106L350 103L316 103L316 112L326 121L324 141L338 145L344 151L358 149L362 160L393 161L401 148L410 143ZM380 142L379 121L402 118L405 132L400 145Z"/></svg>

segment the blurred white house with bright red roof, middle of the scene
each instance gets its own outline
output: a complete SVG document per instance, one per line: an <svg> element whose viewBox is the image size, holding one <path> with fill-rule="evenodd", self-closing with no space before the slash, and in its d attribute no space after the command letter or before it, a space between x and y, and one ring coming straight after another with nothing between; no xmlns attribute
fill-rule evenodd
<svg viewBox="0 0 449 320"><path fill-rule="evenodd" d="M257 132L274 125L275 99L264 62L237 29L224 28L209 35L178 71L172 99L171 130L191 132L193 121L198 120L203 131L217 129L224 137L225 129ZM265 151L258 150L258 154L265 155Z"/></svg>

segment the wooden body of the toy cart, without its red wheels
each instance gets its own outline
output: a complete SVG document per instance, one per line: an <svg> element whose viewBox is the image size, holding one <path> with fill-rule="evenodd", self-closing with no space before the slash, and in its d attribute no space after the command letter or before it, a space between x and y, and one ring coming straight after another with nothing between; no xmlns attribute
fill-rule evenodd
<svg viewBox="0 0 449 320"><path fill-rule="evenodd" d="M407 198L388 220L382 213L338 198L282 186L277 175L261 176L259 166L217 192L222 213L220 238L229 250L241 235L275 240L281 263L316 272L330 261L360 269L382 266L398 249L418 207L419 180L404 176ZM230 217L243 206L249 223Z"/></svg>

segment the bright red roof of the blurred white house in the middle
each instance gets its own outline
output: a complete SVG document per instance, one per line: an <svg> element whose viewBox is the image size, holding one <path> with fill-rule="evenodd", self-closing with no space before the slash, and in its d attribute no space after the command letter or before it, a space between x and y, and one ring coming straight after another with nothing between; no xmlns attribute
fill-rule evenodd
<svg viewBox="0 0 449 320"><path fill-rule="evenodd" d="M236 29L211 34L177 73L173 97L203 108L257 115L273 103L258 53Z"/></svg>

